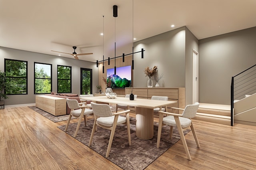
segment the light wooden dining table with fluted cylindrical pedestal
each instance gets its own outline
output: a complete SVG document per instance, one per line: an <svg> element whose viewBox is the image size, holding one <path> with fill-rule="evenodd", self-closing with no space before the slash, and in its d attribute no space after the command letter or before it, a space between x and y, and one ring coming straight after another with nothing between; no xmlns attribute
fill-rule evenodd
<svg viewBox="0 0 256 170"><path fill-rule="evenodd" d="M116 99L109 99L106 96L80 97L80 99L95 101L96 103L112 103L134 106L136 112L136 136L142 140L149 140L154 137L154 108L162 108L176 103L176 101L139 98L130 100L128 97L116 97Z"/></svg>

